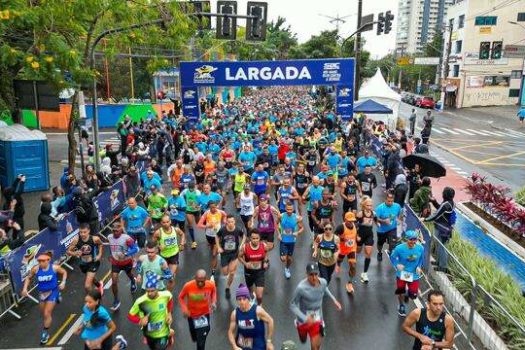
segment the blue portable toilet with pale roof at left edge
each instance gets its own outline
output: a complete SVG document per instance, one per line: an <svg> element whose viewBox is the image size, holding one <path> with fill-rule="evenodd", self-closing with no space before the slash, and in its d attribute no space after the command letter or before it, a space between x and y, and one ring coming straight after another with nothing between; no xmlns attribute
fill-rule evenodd
<svg viewBox="0 0 525 350"><path fill-rule="evenodd" d="M21 124L0 127L0 183L11 186L19 174L26 176L25 192L49 189L46 134Z"/></svg>

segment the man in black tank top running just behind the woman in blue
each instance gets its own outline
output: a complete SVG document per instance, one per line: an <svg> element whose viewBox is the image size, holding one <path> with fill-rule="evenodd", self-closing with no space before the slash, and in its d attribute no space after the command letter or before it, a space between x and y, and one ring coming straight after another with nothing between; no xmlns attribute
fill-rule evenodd
<svg viewBox="0 0 525 350"><path fill-rule="evenodd" d="M100 294L104 293L104 283L98 281L97 271L104 254L104 246L98 236L91 235L89 224L79 225L78 236L73 238L67 248L67 255L80 258L80 271L86 275L84 289L86 293L95 286Z"/></svg>

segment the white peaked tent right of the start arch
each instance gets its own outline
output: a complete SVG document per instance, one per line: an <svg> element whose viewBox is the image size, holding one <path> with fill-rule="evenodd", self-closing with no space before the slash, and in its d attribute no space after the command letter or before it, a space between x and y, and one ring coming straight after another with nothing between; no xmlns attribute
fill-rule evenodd
<svg viewBox="0 0 525 350"><path fill-rule="evenodd" d="M357 104L367 99L379 102L392 110L392 114L371 114L368 117L374 120L382 120L390 130L395 130L401 95L388 86L379 68L377 68L376 74L360 87L359 101L355 103Z"/></svg>

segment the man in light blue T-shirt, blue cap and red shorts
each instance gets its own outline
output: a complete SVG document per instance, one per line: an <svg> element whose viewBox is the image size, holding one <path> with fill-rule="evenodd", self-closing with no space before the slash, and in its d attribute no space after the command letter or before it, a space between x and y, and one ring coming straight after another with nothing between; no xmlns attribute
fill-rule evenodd
<svg viewBox="0 0 525 350"><path fill-rule="evenodd" d="M425 249L417 242L418 234L415 231L405 233L407 241L398 245L390 255L392 265L396 269L396 294L399 298L399 316L406 316L405 303L408 298L417 298L419 279L425 259Z"/></svg>

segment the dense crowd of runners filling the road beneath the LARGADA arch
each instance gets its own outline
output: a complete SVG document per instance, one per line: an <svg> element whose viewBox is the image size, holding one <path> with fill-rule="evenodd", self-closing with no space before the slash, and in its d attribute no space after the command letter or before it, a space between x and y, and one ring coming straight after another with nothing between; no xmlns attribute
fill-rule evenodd
<svg viewBox="0 0 525 350"><path fill-rule="evenodd" d="M403 167L403 156L418 147L411 135L404 130L388 133L383 123L364 115L342 121L316 107L314 97L298 88L257 90L224 105L212 101L202 107L198 123L178 111L159 118L152 114L141 122L126 118L118 126L120 148L103 150L101 172L88 166L83 179L65 174L64 191L55 189L49 200L50 211L67 210L60 208L68 207L66 198L71 196L69 207L81 217L68 255L78 258L85 274L83 323L77 333L86 349L128 346L122 336L113 339L118 327L111 312L123 307L121 272L130 281L131 293L140 295L126 311L149 349L177 347L172 328L176 304L197 349L205 349L219 274L226 298L237 301L228 331L231 348L273 349L274 321L263 306L265 294L272 293L265 291L269 264L281 264L286 279L306 275L290 293L290 310L300 341L309 338L311 349L320 349L325 334L323 297L342 308L329 288L334 274L343 278L345 267L345 289L355 293L356 283L370 282L374 248L378 262L386 252L394 266L393 290L399 298L398 313L405 317L408 299L417 297L424 260L418 233L399 229L407 194L410 205L421 208L418 214L441 218L423 215L433 200L430 194L421 199L426 180L417 170L406 172ZM384 144L381 157L370 151L374 137ZM385 176L384 187L379 174ZM99 234L89 193L118 178L124 179L127 207L109 234ZM199 249L199 235L206 238L209 259L198 269L179 267L181 254ZM307 245L297 243L301 235L307 236ZM97 279L106 247L111 261L110 310L101 305L104 286ZM306 268L294 263L296 250L309 251ZM362 268L357 265L360 254ZM23 291L27 294L30 280L36 278L43 316L41 344L49 340L52 311L67 280L67 272L51 259L46 253L38 256L39 265ZM196 270L194 278L176 284L179 268ZM238 270L244 274L243 283L234 286ZM427 305L405 321L405 331L416 338L414 349L451 347L453 324L443 311L443 296L432 292ZM287 343L282 348L294 347Z"/></svg>

